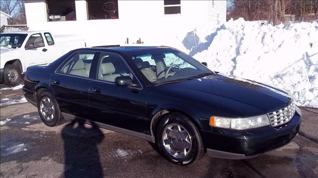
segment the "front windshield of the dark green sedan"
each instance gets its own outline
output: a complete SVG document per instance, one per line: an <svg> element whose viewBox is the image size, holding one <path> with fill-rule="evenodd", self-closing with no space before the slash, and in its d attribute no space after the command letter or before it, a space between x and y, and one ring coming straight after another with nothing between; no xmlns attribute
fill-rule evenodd
<svg viewBox="0 0 318 178"><path fill-rule="evenodd" d="M199 61L176 49L154 49L129 54L153 84L191 80L214 74Z"/></svg>

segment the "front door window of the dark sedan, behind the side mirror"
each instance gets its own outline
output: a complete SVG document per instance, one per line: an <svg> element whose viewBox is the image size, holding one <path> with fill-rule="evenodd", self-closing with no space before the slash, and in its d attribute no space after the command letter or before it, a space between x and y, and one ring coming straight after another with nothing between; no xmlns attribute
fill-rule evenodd
<svg viewBox="0 0 318 178"><path fill-rule="evenodd" d="M98 65L98 79L107 82L115 82L119 76L129 76L133 78L132 73L117 55L101 53Z"/></svg>

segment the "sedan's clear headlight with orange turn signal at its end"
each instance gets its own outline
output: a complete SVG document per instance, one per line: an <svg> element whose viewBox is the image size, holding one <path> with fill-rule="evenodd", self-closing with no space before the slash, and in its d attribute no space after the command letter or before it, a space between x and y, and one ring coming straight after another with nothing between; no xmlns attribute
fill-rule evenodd
<svg viewBox="0 0 318 178"><path fill-rule="evenodd" d="M210 126L227 129L245 130L269 125L269 118L266 114L247 118L225 118L218 116L210 118Z"/></svg>

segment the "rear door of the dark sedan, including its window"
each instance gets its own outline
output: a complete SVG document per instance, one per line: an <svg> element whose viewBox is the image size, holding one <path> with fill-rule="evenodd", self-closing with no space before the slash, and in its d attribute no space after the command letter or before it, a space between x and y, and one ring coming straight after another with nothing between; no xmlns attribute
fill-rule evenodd
<svg viewBox="0 0 318 178"><path fill-rule="evenodd" d="M51 76L61 112L88 118L90 69L96 52L79 51L71 55Z"/></svg>

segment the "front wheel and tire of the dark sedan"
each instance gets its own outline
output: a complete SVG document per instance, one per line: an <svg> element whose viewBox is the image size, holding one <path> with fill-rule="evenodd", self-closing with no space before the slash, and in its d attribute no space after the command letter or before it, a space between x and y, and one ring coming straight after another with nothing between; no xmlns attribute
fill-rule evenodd
<svg viewBox="0 0 318 178"><path fill-rule="evenodd" d="M156 129L156 143L151 145L158 147L159 153L165 159L178 165L189 165L205 153L197 127L180 113L163 116Z"/></svg>

